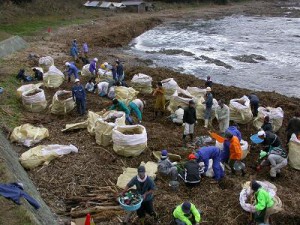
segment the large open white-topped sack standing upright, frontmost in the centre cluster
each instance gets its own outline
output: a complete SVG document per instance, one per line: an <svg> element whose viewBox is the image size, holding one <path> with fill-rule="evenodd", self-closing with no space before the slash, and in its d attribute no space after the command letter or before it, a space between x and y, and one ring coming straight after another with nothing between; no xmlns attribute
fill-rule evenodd
<svg viewBox="0 0 300 225"><path fill-rule="evenodd" d="M147 132L142 125L116 126L112 133L113 149L118 155L140 155L147 147Z"/></svg>

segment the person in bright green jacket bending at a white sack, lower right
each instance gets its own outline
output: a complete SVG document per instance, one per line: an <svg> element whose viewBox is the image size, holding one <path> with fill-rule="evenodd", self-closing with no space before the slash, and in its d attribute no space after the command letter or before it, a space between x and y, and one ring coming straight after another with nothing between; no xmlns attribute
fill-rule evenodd
<svg viewBox="0 0 300 225"><path fill-rule="evenodd" d="M269 192L262 188L257 181L251 182L251 189L254 191L255 203L252 205L254 220L257 223L269 224L269 218L276 213L274 200Z"/></svg>

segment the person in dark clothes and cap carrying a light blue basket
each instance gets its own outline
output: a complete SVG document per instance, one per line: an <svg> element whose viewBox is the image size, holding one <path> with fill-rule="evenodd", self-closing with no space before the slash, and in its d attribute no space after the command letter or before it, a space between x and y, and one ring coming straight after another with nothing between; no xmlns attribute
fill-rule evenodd
<svg viewBox="0 0 300 225"><path fill-rule="evenodd" d="M145 216L149 214L157 219L157 214L153 207L153 192L155 190L154 181L146 175L146 169L144 166L138 167L138 175L134 176L129 183L126 185L122 195L124 195L129 188L136 186L137 192L143 196L141 207L137 210L137 215L140 219L140 224L145 224Z"/></svg>

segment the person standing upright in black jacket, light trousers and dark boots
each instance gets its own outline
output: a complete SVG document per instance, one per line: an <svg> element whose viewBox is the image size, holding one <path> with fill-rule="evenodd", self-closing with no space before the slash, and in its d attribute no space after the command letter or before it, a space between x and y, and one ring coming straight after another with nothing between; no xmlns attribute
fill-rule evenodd
<svg viewBox="0 0 300 225"><path fill-rule="evenodd" d="M196 122L197 122L197 117L196 117L195 102L193 100L190 100L189 106L184 109L184 114L183 114L183 124L184 124L184 131L182 136L183 147L186 147L185 139L187 135L190 136L191 143L193 143L194 127Z"/></svg>

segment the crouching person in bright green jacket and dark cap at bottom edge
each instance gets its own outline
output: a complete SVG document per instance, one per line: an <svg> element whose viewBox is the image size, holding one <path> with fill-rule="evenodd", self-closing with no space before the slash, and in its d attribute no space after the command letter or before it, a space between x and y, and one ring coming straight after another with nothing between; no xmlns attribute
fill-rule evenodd
<svg viewBox="0 0 300 225"><path fill-rule="evenodd" d="M184 202L173 211L173 217L177 225L199 225L201 215L193 203Z"/></svg>

